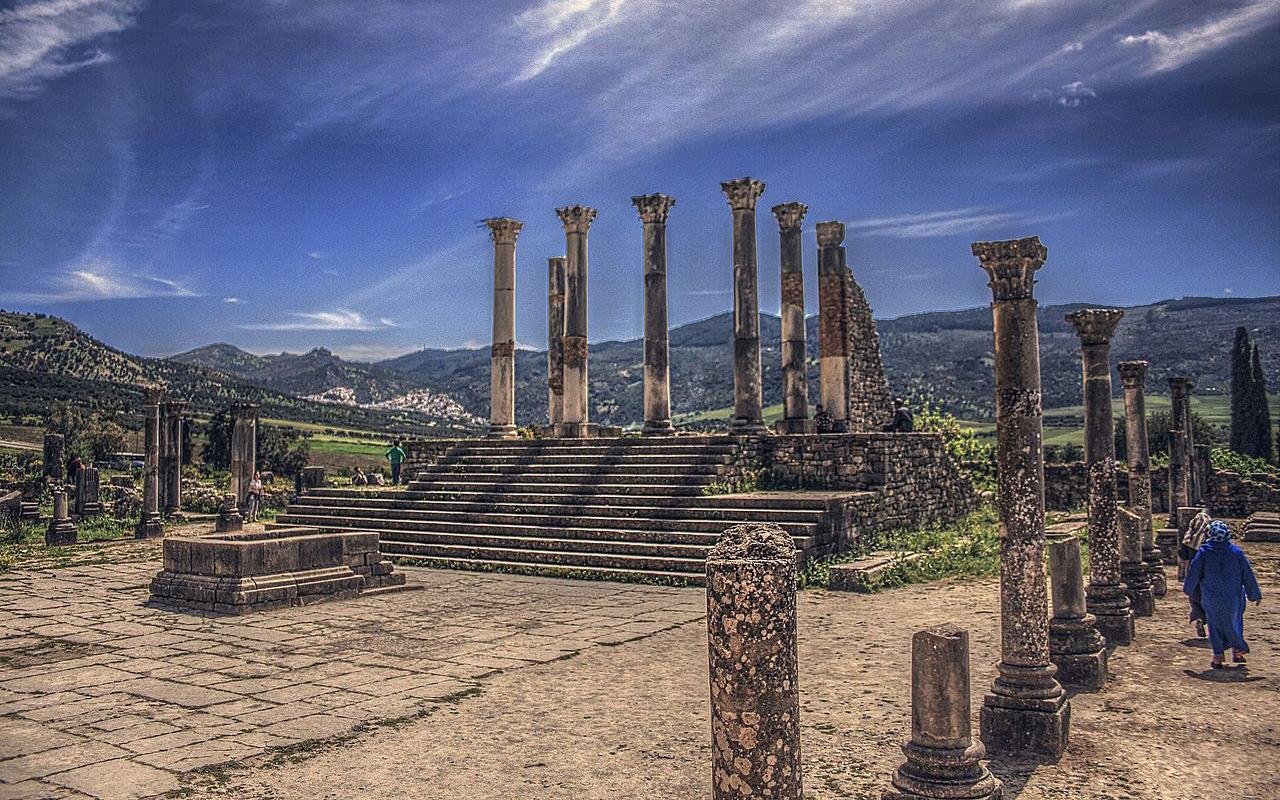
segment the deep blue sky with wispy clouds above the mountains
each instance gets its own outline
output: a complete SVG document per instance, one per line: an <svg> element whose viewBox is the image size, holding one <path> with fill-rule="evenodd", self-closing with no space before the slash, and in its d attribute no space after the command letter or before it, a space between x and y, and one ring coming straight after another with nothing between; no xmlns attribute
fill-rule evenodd
<svg viewBox="0 0 1280 800"><path fill-rule="evenodd" d="M0 0L0 306L168 355L486 344L480 220L596 206L590 333L641 333L630 197L676 196L672 324L730 307L719 182L849 225L878 316L989 300L969 242L1039 234L1046 302L1280 293L1280 0Z"/></svg>

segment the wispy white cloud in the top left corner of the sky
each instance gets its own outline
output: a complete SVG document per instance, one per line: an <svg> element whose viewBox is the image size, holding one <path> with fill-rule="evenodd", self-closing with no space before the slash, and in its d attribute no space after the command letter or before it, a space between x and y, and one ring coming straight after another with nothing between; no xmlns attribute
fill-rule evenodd
<svg viewBox="0 0 1280 800"><path fill-rule="evenodd" d="M141 0L33 0L0 9L0 101L111 60L101 40L134 23Z"/></svg>

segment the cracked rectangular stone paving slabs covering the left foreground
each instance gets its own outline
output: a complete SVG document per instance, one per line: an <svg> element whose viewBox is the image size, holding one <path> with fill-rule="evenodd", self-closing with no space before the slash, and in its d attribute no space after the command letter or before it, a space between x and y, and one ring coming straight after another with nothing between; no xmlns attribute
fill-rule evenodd
<svg viewBox="0 0 1280 800"><path fill-rule="evenodd" d="M145 605L157 568L0 576L0 797L166 792L703 614L699 593L408 570L421 590L201 618Z"/></svg>

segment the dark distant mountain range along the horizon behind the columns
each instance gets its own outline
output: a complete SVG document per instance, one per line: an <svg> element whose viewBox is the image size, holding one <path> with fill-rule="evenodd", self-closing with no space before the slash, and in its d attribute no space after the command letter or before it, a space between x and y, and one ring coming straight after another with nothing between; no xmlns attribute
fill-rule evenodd
<svg viewBox="0 0 1280 800"><path fill-rule="evenodd" d="M1041 375L1046 408L1080 402L1079 340L1064 316L1082 303L1039 310ZM1275 369L1280 348L1280 297L1184 298L1125 310L1112 364L1151 362L1148 390L1188 374L1197 392L1230 385L1234 330L1244 325ZM989 308L932 311L879 320L881 349L892 390L932 397L964 419L992 413ZM809 387L817 398L817 319L808 320ZM721 314L671 330L672 408L704 412L732 404L732 316ZM781 323L760 315L764 402L781 402ZM643 342L591 344L591 419L641 420ZM138 358L110 348L56 317L0 312L0 378L19 385L0 394L0 410L32 407L49 392L83 394L104 387L165 380L198 407L250 397L265 413L387 430L475 430L489 412L489 349L421 349L378 364L347 361L324 348L302 355L256 356L211 344L172 358ZM1275 379L1274 379L1275 380ZM88 387L88 389L86 388ZM1116 387L1119 392L1119 381ZM547 415L547 356L516 353L516 416L535 424Z"/></svg>

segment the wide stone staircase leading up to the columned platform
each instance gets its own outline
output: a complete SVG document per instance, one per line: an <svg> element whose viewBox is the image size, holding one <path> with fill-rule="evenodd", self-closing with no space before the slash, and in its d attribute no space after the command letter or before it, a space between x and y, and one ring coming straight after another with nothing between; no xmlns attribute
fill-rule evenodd
<svg viewBox="0 0 1280 800"><path fill-rule="evenodd" d="M707 494L741 463L733 436L465 440L404 490L312 489L279 526L374 530L407 563L700 584L740 522L777 522L801 558L833 550L865 493Z"/></svg>

